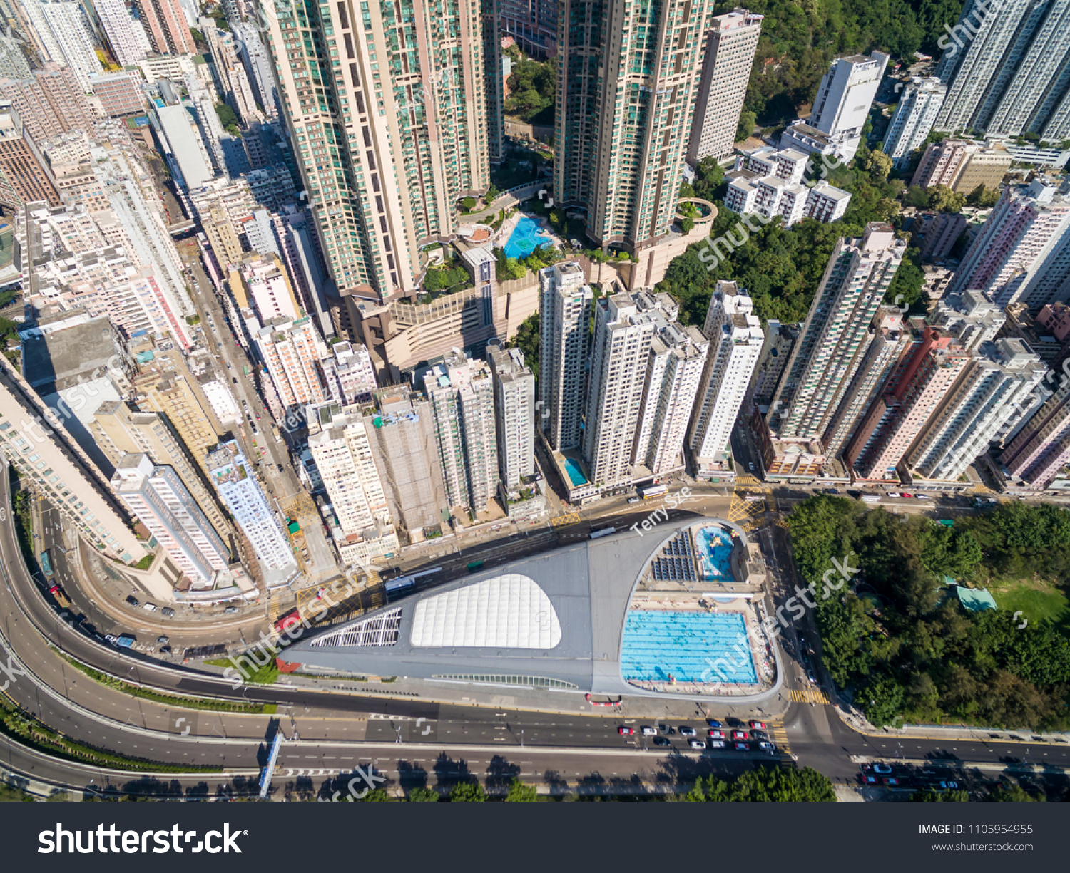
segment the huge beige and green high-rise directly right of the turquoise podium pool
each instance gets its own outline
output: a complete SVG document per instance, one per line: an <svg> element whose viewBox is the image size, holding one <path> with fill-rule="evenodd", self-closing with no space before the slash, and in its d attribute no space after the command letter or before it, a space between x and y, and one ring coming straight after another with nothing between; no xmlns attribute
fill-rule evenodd
<svg viewBox="0 0 1070 873"><path fill-rule="evenodd" d="M713 7L560 4L554 200L600 246L638 255L674 221Z"/></svg>

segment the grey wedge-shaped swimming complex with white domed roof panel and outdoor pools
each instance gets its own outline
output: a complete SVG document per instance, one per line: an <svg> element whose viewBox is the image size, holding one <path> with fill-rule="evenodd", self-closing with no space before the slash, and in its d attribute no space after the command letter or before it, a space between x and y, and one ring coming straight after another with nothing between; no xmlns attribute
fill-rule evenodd
<svg viewBox="0 0 1070 873"><path fill-rule="evenodd" d="M780 685L765 564L720 519L624 531L399 599L288 646L316 674L760 700Z"/></svg>

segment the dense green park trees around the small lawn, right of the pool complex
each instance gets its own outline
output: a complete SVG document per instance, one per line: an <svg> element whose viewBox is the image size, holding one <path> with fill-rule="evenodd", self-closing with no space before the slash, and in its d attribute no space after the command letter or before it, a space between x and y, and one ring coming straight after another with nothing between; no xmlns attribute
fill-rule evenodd
<svg viewBox="0 0 1070 873"><path fill-rule="evenodd" d="M1070 515L1004 503L957 520L899 516L845 498L812 497L789 525L799 575L815 582L840 561L858 573L815 598L825 667L875 724L961 721L1065 727L1070 642L1045 621L967 612L945 576L1070 577Z"/></svg>

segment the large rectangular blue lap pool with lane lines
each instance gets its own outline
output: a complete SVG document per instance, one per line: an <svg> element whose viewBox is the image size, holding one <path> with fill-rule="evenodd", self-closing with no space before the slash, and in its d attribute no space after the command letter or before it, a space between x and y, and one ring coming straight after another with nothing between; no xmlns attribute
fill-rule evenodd
<svg viewBox="0 0 1070 873"><path fill-rule="evenodd" d="M628 612L621 672L629 681L758 682L738 612Z"/></svg>

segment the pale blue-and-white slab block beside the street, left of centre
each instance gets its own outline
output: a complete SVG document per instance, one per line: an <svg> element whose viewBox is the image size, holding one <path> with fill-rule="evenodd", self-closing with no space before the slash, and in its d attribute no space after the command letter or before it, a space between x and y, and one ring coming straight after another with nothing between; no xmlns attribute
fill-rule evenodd
<svg viewBox="0 0 1070 873"><path fill-rule="evenodd" d="M224 504L251 543L261 567L265 568L264 575L268 576L269 571L276 574L295 572L297 562L282 526L272 512L263 488L257 482L256 472L238 442L220 442L208 453L204 468ZM286 577L282 576L279 581L286 581Z"/></svg>

